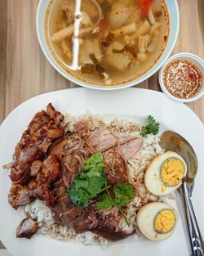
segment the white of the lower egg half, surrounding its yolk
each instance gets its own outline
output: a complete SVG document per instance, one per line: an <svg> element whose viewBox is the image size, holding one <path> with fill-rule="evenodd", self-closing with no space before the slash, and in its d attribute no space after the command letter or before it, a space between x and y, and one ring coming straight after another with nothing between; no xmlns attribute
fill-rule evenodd
<svg viewBox="0 0 204 256"><path fill-rule="evenodd" d="M177 223L177 214L175 212L175 209L172 209L175 213L175 226L173 227L173 229L166 234L159 234L154 230L154 219L156 218L157 213L159 213L162 209L172 208L168 204L153 202L145 204L142 208L140 208L139 212L137 213L137 226L139 227L141 233L149 240L165 240L170 237L175 231L175 226Z"/></svg>

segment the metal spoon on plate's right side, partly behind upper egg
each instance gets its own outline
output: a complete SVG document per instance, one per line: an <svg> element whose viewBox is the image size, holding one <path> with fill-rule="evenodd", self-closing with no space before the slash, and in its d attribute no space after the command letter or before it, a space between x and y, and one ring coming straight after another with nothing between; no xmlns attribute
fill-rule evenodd
<svg viewBox="0 0 204 256"><path fill-rule="evenodd" d="M197 219L193 210L191 194L193 191L194 178L197 174L197 156L193 147L176 132L163 132L161 137L161 146L165 150L175 151L181 155L187 164L187 174L184 177L182 186L180 186L181 194L184 197L185 213L188 224L188 235L190 239L192 255L204 255L204 242L201 231L197 225Z"/></svg>

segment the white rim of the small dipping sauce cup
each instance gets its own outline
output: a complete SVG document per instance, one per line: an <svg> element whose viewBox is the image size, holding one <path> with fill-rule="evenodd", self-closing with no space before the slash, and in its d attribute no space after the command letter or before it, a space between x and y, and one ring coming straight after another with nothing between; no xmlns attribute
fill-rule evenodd
<svg viewBox="0 0 204 256"><path fill-rule="evenodd" d="M163 83L162 74L163 74L164 69L166 68L166 65L171 63L171 61L180 59L181 57L189 57L189 59L191 59L192 61L197 60L202 65L202 69L204 70L204 61L202 60L201 57L199 57L193 53L190 53L190 52L176 53L176 54L172 55L171 57L169 57L166 60L166 62L164 63L164 65L162 65L162 68L159 70L158 80L159 80L160 88L162 89L162 92L164 92L166 94L166 97L171 98L171 100L183 102L183 103L197 101L204 95L204 80L203 79L202 79L202 91L198 92L194 97L189 98L189 99L180 99L180 98L174 97L170 92L168 92L168 90L166 89L166 86Z"/></svg>

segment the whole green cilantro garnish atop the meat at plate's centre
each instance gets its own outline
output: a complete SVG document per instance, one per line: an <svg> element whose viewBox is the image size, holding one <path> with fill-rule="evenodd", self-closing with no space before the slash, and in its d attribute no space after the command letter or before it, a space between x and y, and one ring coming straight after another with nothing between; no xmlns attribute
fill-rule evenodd
<svg viewBox="0 0 204 256"><path fill-rule="evenodd" d="M109 193L109 185L107 185L107 177L104 173L104 155L95 153L84 162L84 172L78 173L73 179L70 189L66 189L72 203L80 208L86 207L91 201L99 200L100 193L107 191L102 195L101 200L96 202L96 209L118 208L122 217L129 225L122 206L129 204L135 197L135 190L131 184L118 183L113 186L114 198Z"/></svg>

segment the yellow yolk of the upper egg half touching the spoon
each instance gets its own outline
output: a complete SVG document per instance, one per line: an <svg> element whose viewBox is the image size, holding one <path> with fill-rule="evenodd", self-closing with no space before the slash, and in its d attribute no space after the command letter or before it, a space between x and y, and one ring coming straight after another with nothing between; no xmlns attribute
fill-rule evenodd
<svg viewBox="0 0 204 256"><path fill-rule="evenodd" d="M184 177L184 163L175 157L166 159L161 168L160 177L166 186L177 186Z"/></svg>

